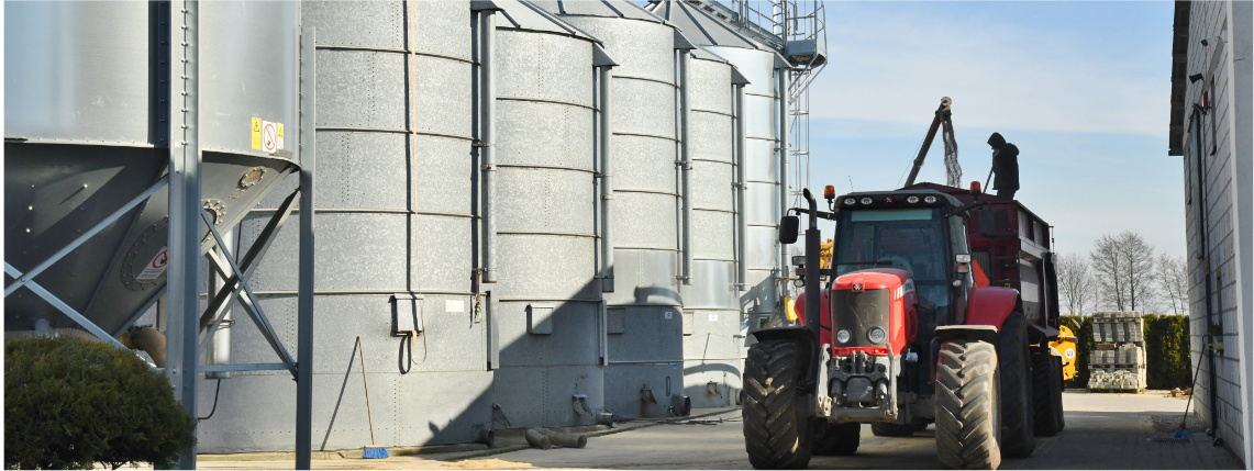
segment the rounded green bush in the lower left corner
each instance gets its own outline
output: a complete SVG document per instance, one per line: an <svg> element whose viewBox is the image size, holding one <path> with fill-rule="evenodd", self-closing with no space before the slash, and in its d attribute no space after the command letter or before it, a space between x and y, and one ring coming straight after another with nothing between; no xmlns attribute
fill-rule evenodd
<svg viewBox="0 0 1254 471"><path fill-rule="evenodd" d="M133 352L69 337L6 339L6 468L171 466L196 420Z"/></svg>

